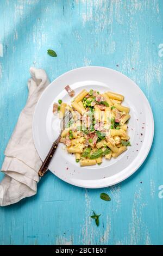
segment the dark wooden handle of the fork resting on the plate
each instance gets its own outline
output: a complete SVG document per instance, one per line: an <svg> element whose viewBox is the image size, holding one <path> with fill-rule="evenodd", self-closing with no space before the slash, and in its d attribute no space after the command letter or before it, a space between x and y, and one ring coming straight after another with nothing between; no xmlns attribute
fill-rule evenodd
<svg viewBox="0 0 163 256"><path fill-rule="evenodd" d="M49 163L51 162L52 157L53 157L57 147L58 147L58 143L56 141L54 141L51 149L49 150L49 152L46 156L46 159L43 161L42 166L40 167L40 170L39 170L39 176L40 177L42 177L46 173L46 171L48 169L48 166L49 166Z"/></svg>

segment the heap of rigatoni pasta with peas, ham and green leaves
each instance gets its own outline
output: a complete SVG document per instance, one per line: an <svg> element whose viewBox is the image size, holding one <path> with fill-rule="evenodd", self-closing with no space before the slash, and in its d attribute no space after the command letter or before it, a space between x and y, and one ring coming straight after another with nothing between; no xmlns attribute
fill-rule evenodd
<svg viewBox="0 0 163 256"><path fill-rule="evenodd" d="M121 105L123 99L121 94L83 89L71 105L58 101L59 118L64 117L66 110L72 113L60 142L66 145L67 153L74 154L80 166L100 165L103 158L108 161L127 150L130 108Z"/></svg>

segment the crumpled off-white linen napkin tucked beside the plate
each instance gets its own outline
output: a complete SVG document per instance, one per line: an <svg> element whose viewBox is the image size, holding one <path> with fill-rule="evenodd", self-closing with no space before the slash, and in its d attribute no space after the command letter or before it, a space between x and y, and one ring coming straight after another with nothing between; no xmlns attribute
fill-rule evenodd
<svg viewBox="0 0 163 256"><path fill-rule="evenodd" d="M0 205L14 204L37 192L37 174L41 159L36 152L32 137L32 119L35 105L48 86L45 70L30 68L32 78L28 80L28 99L14 132L5 149L2 172L5 176L0 184Z"/></svg>

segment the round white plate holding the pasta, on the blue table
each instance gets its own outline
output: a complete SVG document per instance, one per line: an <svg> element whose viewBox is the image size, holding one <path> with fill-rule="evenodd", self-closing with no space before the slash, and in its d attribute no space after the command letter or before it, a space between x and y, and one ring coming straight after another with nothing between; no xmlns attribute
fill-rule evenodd
<svg viewBox="0 0 163 256"><path fill-rule="evenodd" d="M130 80L112 69L89 66L68 71L54 80L41 95L33 118L33 138L36 150L44 160L59 129L52 113L53 103L62 99L71 102L64 89L69 84L76 95L82 89L110 90L124 95L124 106L130 107L128 123L131 147L117 159L104 159L101 166L80 167L75 157L66 153L59 144L49 170L72 185L86 188L108 187L127 179L145 161L152 145L154 121L151 107L141 89Z"/></svg>

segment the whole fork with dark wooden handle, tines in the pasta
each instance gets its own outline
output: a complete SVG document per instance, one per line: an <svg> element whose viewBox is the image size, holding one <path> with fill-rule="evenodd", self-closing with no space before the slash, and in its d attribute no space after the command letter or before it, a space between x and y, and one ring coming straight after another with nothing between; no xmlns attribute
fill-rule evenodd
<svg viewBox="0 0 163 256"><path fill-rule="evenodd" d="M42 165L39 169L38 174L39 174L40 177L42 177L47 172L49 163L51 162L52 157L53 157L55 151L57 150L57 147L58 147L58 144L59 144L59 141L60 141L60 138L61 138L61 133L65 129L67 123L70 121L71 118L72 118L72 113L70 111L67 111L64 115L64 118L61 120L60 134L59 134L58 138L53 142L51 149L48 151L48 154L47 154L45 160L43 161L43 163L42 163Z"/></svg>

